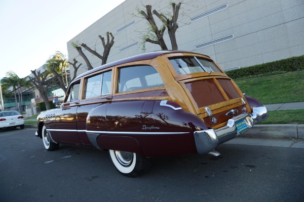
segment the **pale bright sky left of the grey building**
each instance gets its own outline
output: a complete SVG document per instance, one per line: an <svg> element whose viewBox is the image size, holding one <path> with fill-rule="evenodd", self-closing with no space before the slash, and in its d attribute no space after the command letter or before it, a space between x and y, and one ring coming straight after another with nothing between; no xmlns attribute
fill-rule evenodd
<svg viewBox="0 0 304 202"><path fill-rule="evenodd" d="M0 79L43 66L67 42L125 0L1 0Z"/></svg>

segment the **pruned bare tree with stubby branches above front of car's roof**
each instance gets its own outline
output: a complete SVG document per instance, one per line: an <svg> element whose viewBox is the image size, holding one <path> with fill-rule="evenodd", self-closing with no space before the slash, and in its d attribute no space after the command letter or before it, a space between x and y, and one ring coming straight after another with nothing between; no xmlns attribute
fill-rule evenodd
<svg viewBox="0 0 304 202"><path fill-rule="evenodd" d="M110 39L111 36L111 39ZM91 54L93 54L94 56L98 57L99 59L101 59L101 65L106 64L107 58L110 54L110 50L111 47L114 44L114 36L111 32L106 32L106 42L104 37L102 36L98 36L101 39L102 42L102 46L103 46L103 54L102 56L97 53L96 51L94 51L92 48L90 48L88 45L86 45L85 43L82 43L81 46L84 47L88 52L90 52ZM83 53L82 51L82 47L79 44L75 44L72 43L72 45L77 49L79 55L84 59L84 61L86 62L87 66L88 66L88 70L93 69L89 59L87 58L87 56Z"/></svg>

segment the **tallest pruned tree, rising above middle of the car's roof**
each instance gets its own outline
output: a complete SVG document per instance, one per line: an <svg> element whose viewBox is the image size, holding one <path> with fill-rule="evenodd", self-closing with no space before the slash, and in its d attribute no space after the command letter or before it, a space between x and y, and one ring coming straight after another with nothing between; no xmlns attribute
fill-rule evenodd
<svg viewBox="0 0 304 202"><path fill-rule="evenodd" d="M146 13L141 10L140 14L149 22L149 24L150 24L149 30L151 30L155 33L156 40L151 39L151 35L149 33L146 34L143 37L143 39L150 43L159 44L161 46L162 50L167 50L168 48L164 41L164 33L167 28L168 34L170 37L170 41L171 41L172 50L177 50L178 46L177 46L177 42L176 42L175 32L178 28L177 19L178 19L181 4L182 4L181 2L178 3L177 5L175 3L171 3L172 16L170 16L170 17L167 17L165 14L159 13L156 10L153 10L153 12L151 12L152 6L146 5L145 6ZM158 28L152 13L155 14L159 18L159 20L163 23L161 26L161 29Z"/></svg>

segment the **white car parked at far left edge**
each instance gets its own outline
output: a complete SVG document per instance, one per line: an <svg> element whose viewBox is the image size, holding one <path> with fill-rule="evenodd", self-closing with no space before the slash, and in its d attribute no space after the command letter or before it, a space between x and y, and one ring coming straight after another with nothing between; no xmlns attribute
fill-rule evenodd
<svg viewBox="0 0 304 202"><path fill-rule="evenodd" d="M23 116L17 111L0 112L0 128L24 128Z"/></svg>

